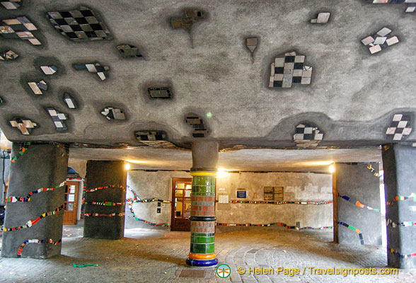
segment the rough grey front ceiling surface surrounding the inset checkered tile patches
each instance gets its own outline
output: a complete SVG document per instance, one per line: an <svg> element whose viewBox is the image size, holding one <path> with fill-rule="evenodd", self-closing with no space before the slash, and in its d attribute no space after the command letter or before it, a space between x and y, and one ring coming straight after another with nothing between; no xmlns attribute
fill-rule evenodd
<svg viewBox="0 0 416 283"><path fill-rule="evenodd" d="M113 40L72 42L45 16L81 4L100 14ZM191 35L169 24L187 7L208 15ZM185 115L195 112L204 117L209 139L223 146L288 146L294 127L304 121L320 127L322 144L381 144L393 113L416 110L415 15L403 8L361 0L24 1L18 10L2 9L1 18L28 16L42 45L0 37L2 50L20 54L16 61L0 62L0 96L6 100L0 127L12 141L108 145L138 144L134 131L163 129L181 145L192 141ZM320 11L331 13L330 22L309 23ZM383 26L400 42L371 55L360 40ZM244 46L248 36L260 38L254 63ZM144 59L122 59L116 46L123 43L139 47ZM313 67L311 85L268 88L273 58L291 50L306 55ZM59 67L57 74L42 74L42 62ZM72 64L79 62L109 66L108 79L76 71ZM29 79L45 79L50 88L35 96L28 90ZM150 100L146 87L151 86L171 86L174 98ZM64 106L64 91L78 100L79 109ZM54 129L45 106L69 115L66 132ZM127 120L106 120L100 114L106 106L122 108ZM40 127L23 136L8 125L13 117L29 118ZM416 140L414 131L408 140Z"/></svg>

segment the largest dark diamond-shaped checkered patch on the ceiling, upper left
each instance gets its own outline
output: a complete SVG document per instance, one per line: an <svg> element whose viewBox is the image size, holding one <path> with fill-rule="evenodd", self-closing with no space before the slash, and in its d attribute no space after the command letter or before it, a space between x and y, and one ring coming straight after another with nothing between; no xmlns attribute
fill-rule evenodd
<svg viewBox="0 0 416 283"><path fill-rule="evenodd" d="M71 40L110 40L112 35L95 11L81 6L79 11L48 12L54 28Z"/></svg>

